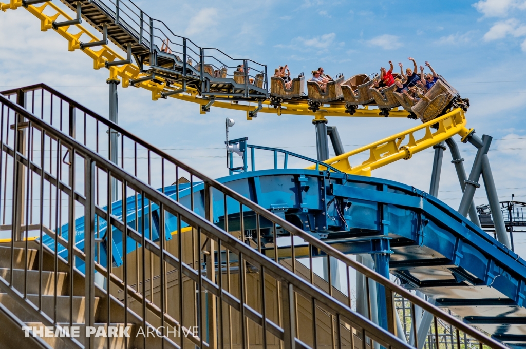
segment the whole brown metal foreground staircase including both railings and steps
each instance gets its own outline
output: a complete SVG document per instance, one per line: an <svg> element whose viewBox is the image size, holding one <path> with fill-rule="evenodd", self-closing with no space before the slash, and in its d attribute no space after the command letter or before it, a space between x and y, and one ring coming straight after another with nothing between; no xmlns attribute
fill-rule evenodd
<svg viewBox="0 0 526 349"><path fill-rule="evenodd" d="M63 94L39 84L2 95L2 347L402 349L410 347L397 326L395 299L403 297L412 324L418 307L432 314L437 338L437 323L447 323L471 345L503 348ZM108 160L113 132L120 136L117 163ZM199 182L203 190L186 195L186 207L183 191ZM218 200L228 218L221 224ZM288 258L264 239L267 227L274 241L292 242ZM314 273L320 257L343 262L348 285L351 272L365 278L356 303L365 316L352 310L351 292L335 288L331 263L327 282ZM78 325L81 334L131 327L129 338L24 336L22 326L39 324L52 332ZM168 328L195 331L170 336Z"/></svg>

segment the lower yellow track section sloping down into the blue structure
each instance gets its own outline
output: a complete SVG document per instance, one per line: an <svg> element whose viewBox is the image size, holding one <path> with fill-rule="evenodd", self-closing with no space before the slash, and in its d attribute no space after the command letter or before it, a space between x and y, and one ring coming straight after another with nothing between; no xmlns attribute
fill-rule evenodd
<svg viewBox="0 0 526 349"><path fill-rule="evenodd" d="M435 124L438 124L438 129L433 131L431 126ZM416 139L416 133L419 131L424 132L424 135L420 139ZM462 140L464 140L472 131L473 129L468 130L466 128L466 117L462 109L458 108L415 128L362 146L324 162L345 173L370 176L372 170L397 160L408 160L413 154L445 141L456 134L462 136ZM352 156L363 152L369 152L368 160L351 166ZM316 167L307 167L309 170L314 168Z"/></svg>

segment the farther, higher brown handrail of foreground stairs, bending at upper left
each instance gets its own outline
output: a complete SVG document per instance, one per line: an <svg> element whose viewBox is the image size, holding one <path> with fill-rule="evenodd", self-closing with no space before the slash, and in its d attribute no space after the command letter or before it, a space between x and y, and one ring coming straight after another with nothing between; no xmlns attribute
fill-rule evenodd
<svg viewBox="0 0 526 349"><path fill-rule="evenodd" d="M34 86L25 87L25 88L21 88L21 89L9 90L9 91L6 91L4 93L6 93L6 94L14 94L14 93L17 93L17 92L22 93L22 92L27 92L27 91L39 89L39 88L42 88L42 89L44 89L46 91L54 93L57 97L67 101L68 103L73 105L75 108L77 108L77 109L89 114L90 116L95 118L98 122L105 124L106 126L108 126L109 129L116 130L117 132L122 134L122 139L124 139L124 138L131 139L134 142L136 142L137 144L140 144L141 146L144 146L146 149L148 149L149 152L154 153L154 154L160 156L165 161L168 161L168 162L176 165L177 167L180 167L180 168L184 169L185 171L187 171L190 174L190 176L198 177L199 179L201 179L201 181L204 182L205 188L209 187L209 188L217 189L219 192L223 193L225 196L228 196L229 198L232 198L232 199L236 200L241 207L245 206L245 207L249 208L250 210L252 210L258 217L264 217L264 218L268 219L269 221L274 223L274 227L280 226L280 227L284 228L285 230L289 231L291 236L298 236L299 238L301 238L301 239L303 239L304 241L307 242L307 244L309 245L309 250L311 248L316 248L316 249L318 249L320 251L323 251L328 256L327 258L330 258L330 257L337 258L338 260L340 260L343 263L345 263L347 268L352 268L352 269L362 273L367 278L377 282L378 284L383 285L383 287L385 287L385 289L386 289L386 298L388 298L388 300L392 300L393 294L395 294L395 293L399 294L402 297L404 297L404 298L408 299L409 301L411 301L413 303L413 305L420 306L422 309L424 309L424 310L430 312L431 314L433 314L434 316L436 316L436 318L442 319L443 321L446 321L447 323L453 325L457 329L468 333L470 336L472 336L473 338L479 340L481 343L484 343L485 345L488 345L490 347L504 348L504 346L502 346L500 343L498 343L498 342L496 342L496 341L494 341L492 339L489 339L488 337L484 336L480 332L472 329L472 327L470 327L469 325L458 321L458 319L454 318L453 316L451 316L451 315L449 315L447 313L444 313L443 311L441 311L436 306L433 306L433 305L429 304L428 302L422 300L421 298L416 297L416 295L414 295L411 292L409 292L408 290L400 287L399 285L392 283L389 279L381 276L377 272L372 271L372 270L368 269L367 267L361 265L360 263L356 262L355 260L353 260L353 259L349 258L348 256L344 255L342 252L336 250L335 248L325 244L321 240L319 240L319 239L307 234L307 232L305 232L305 231L297 228L296 226L292 225L288 221L275 216L270 211L268 211L265 208L262 208L261 206L255 204L254 202L250 201L248 198L246 198L244 196L241 196L240 194L232 191L230 188L226 187L225 185L223 185L221 183L218 183L214 179L208 178L207 176L203 175L199 171L196 171L193 168L187 166L186 164L178 161L176 158L170 156L169 154L163 153L157 147L155 147L153 145L150 145L149 143L139 139L137 136L135 136L135 135L127 132L126 130L122 129L119 125L117 125L117 124L115 124L115 123L113 123L113 122L101 117L100 115L90 111L89 109L83 107L82 105L76 103L75 101L67 98L62 93L59 93L59 92L55 91L54 89L47 87L45 84L37 84L37 85L34 85ZM191 181L191 178L190 178L190 181ZM164 186L163 186L163 191L164 191ZM205 193L206 192L207 191L205 190ZM258 248L261 248L261 246L258 246ZM277 253L275 255L275 258L276 258L276 261L277 261L277 258L278 258ZM331 294L331 293L332 293L332 287L329 288L329 294ZM349 300L350 300L350 294L349 294ZM390 301L388 302L388 304L390 304ZM388 309L388 311L391 311L390 324L393 324L394 323L394 318L393 318L394 315L392 313L393 309ZM394 332L394 330L392 330L392 332Z"/></svg>

